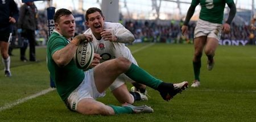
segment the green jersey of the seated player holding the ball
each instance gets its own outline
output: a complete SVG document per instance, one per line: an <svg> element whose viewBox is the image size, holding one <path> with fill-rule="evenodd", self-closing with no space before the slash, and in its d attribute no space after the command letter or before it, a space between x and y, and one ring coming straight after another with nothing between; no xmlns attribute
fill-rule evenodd
<svg viewBox="0 0 256 122"><path fill-rule="evenodd" d="M55 51L63 49L68 43L67 38L60 36L57 32L53 32L47 42L47 67L51 78L55 81L57 93L63 101L81 84L85 77L82 69L76 67L74 60L64 67L58 67L52 59Z"/></svg>

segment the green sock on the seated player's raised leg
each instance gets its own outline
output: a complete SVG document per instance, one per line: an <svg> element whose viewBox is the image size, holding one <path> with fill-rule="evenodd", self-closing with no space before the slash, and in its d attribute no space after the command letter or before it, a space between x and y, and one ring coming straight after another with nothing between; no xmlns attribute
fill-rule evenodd
<svg viewBox="0 0 256 122"><path fill-rule="evenodd" d="M141 84L150 86L150 88L157 89L158 86L163 82L159 79L156 79L142 68L138 67L134 63L131 63L130 68L125 73L130 79L139 82Z"/></svg>

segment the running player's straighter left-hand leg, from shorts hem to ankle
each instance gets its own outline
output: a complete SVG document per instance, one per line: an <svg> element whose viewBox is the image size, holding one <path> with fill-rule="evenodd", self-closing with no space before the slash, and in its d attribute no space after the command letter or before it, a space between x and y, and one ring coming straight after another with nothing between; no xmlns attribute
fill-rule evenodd
<svg viewBox="0 0 256 122"><path fill-rule="evenodd" d="M195 53L193 56L193 71L196 81L200 81L201 56L203 54L206 40L206 36L200 36L194 40Z"/></svg>

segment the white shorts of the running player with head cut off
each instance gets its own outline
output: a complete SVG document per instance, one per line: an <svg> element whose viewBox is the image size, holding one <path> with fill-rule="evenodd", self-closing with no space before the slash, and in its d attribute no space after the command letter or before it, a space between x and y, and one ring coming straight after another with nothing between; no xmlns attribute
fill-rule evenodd
<svg viewBox="0 0 256 122"><path fill-rule="evenodd" d="M210 23L209 21L197 20L194 38L207 36L220 40L222 24Z"/></svg>

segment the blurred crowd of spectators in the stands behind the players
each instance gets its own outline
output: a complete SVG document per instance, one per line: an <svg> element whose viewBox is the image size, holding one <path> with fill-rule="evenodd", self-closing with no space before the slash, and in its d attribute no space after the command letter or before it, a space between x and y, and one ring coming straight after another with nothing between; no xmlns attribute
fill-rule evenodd
<svg viewBox="0 0 256 122"><path fill-rule="evenodd" d="M42 43L46 44L44 40L47 40L48 32L47 15L44 12L39 12L38 17L39 33L36 36L36 40L43 40ZM182 20L172 20L168 21L168 23L165 21L164 24L156 24L154 20L128 20L122 22L122 24L134 34L137 42L193 43L193 31L196 21L189 23L189 31L186 35L181 34ZM222 33L221 40L254 40L254 33L252 35L249 25L232 23L230 27L231 32ZM77 34L83 32L84 30L82 29L76 31Z"/></svg>

